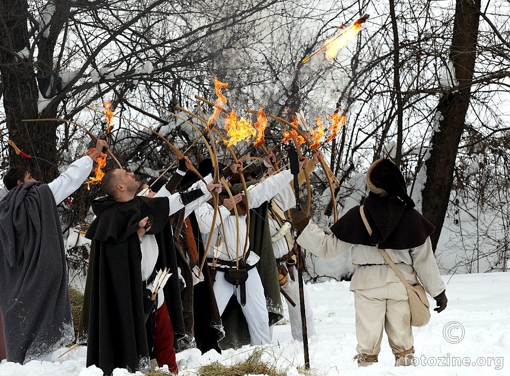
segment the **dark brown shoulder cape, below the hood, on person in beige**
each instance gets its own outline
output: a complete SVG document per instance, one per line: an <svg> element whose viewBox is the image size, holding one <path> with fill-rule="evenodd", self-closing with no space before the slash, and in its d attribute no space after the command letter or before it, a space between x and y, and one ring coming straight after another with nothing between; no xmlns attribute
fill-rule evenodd
<svg viewBox="0 0 510 376"><path fill-rule="evenodd" d="M350 209L333 226L331 232L347 243L388 249L410 249L425 243L435 227L414 208L397 197L380 197L370 192L363 202L372 236L360 215L360 206Z"/></svg>

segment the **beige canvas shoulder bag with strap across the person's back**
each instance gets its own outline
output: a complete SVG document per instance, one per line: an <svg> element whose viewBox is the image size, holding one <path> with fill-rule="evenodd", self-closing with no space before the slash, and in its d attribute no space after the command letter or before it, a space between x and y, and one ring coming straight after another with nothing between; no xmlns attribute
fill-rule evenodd
<svg viewBox="0 0 510 376"><path fill-rule="evenodd" d="M369 235L371 235L372 228L370 227L367 221L367 217L363 212L363 205L360 206L360 214ZM377 248L379 248L378 245ZM407 295L409 295L409 307L411 308L411 325L424 326L428 324L428 322L430 321L430 309L427 294L425 293L425 288L420 283L417 283L416 285L409 284L405 280L400 270L398 270L393 260L391 260L390 255L386 253L386 250L379 249L379 252L381 252L382 257L384 257L386 262L390 265L390 267L393 269L395 274L398 276L398 278L402 281L405 288L407 289Z"/></svg>

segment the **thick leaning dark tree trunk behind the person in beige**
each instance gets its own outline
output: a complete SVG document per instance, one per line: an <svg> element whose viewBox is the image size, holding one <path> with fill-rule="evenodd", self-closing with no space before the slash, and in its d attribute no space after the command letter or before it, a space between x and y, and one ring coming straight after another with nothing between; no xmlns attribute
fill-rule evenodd
<svg viewBox="0 0 510 376"><path fill-rule="evenodd" d="M431 138L430 157L425 162L426 183L422 192L423 215L436 226L436 231L430 236L434 250L448 207L458 144L469 108L479 10L480 0L456 0L450 60L453 62L455 78L460 88L453 87L439 101L439 129Z"/></svg>

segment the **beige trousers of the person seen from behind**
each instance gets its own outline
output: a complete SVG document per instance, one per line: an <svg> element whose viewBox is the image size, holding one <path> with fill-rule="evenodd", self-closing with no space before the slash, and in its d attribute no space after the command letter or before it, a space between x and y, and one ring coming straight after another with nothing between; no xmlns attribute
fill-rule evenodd
<svg viewBox="0 0 510 376"><path fill-rule="evenodd" d="M393 354L413 346L409 296L401 282L354 291L358 354L378 355L384 326Z"/></svg>

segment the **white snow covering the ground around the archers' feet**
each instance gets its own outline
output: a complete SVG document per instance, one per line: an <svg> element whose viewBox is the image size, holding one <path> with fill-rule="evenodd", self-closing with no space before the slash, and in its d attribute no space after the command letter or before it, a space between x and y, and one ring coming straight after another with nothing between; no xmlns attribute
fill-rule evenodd
<svg viewBox="0 0 510 376"><path fill-rule="evenodd" d="M358 368L355 355L354 299L347 282L328 281L308 285L314 307L317 335L310 338L310 363L313 374L351 375L507 375L510 364L510 273L459 274L444 276L448 307L441 314L432 312L430 323L414 328L417 367L394 367L386 336L382 339L379 363ZM432 304L432 302L431 302ZM435 304L433 304L435 306ZM253 347L210 351L197 349L177 354L180 373L195 375L198 367L213 361L231 364L245 359ZM56 351L55 357L65 349ZM95 367L85 368L86 348L71 351L50 362L25 365L0 364L1 376L100 376ZM288 320L276 325L272 346L265 359L287 369L288 376L299 374L303 365L303 346L293 341ZM478 363L478 365L477 365ZM121 370L115 376L127 374Z"/></svg>

